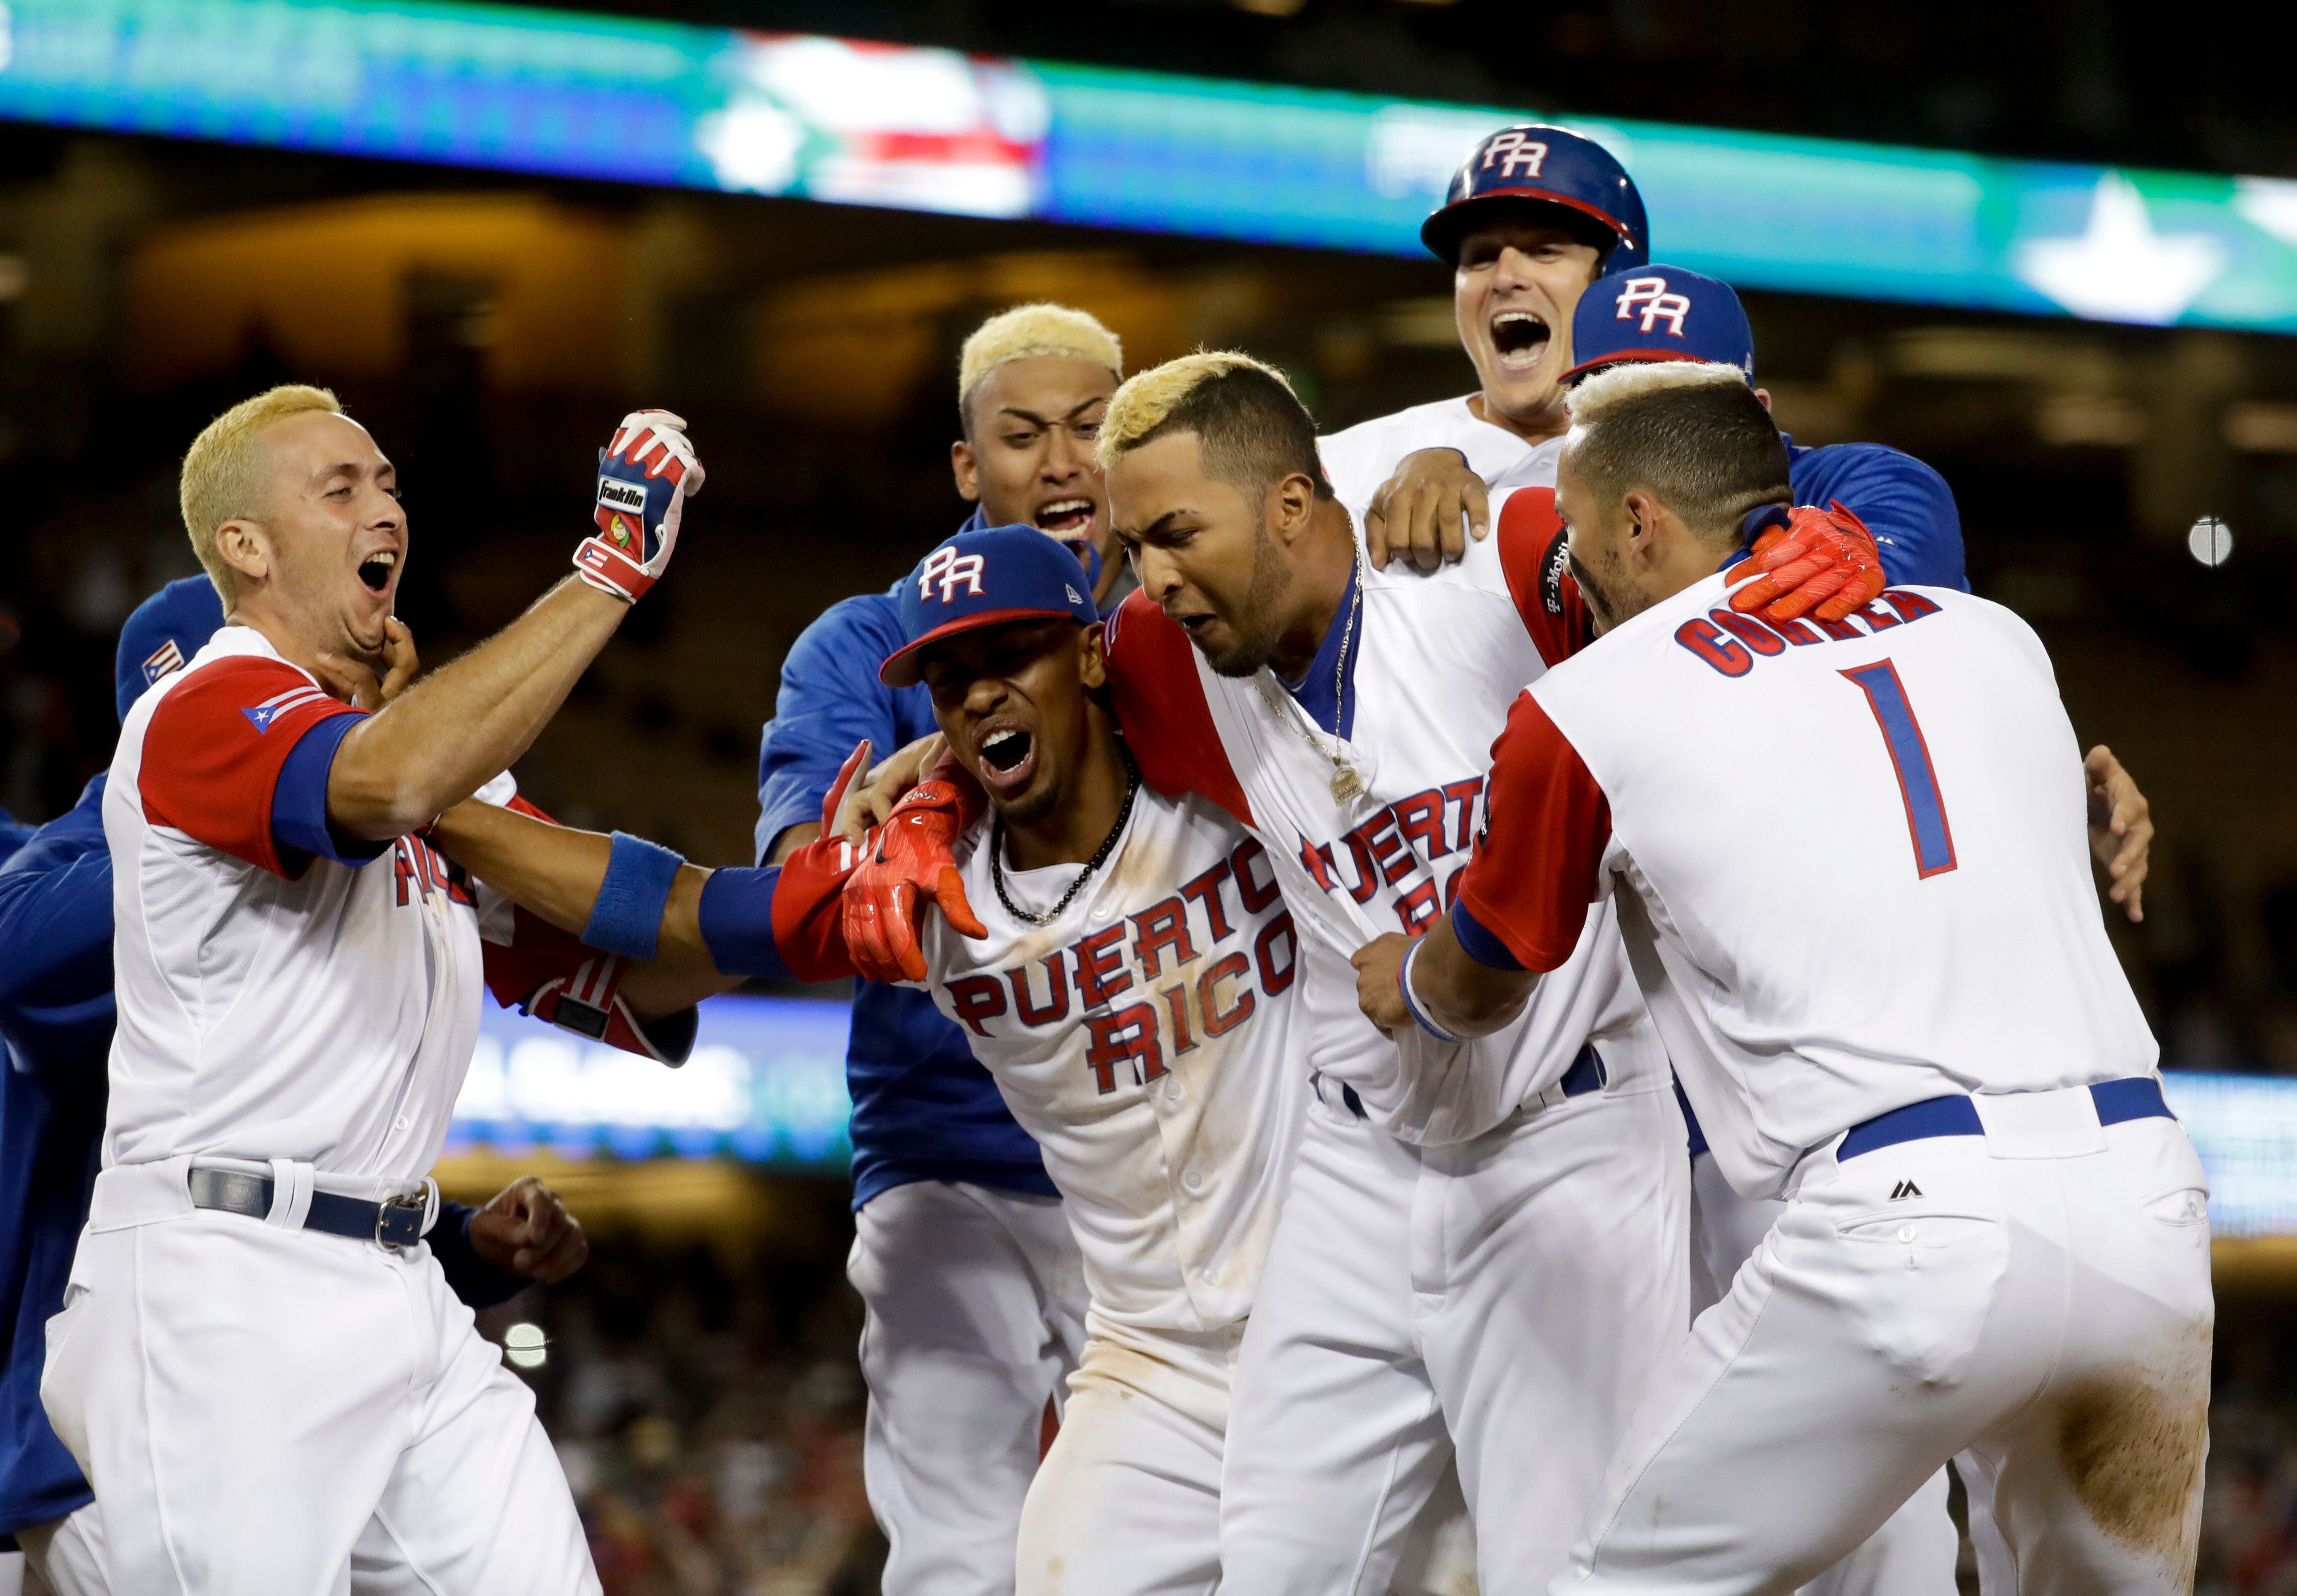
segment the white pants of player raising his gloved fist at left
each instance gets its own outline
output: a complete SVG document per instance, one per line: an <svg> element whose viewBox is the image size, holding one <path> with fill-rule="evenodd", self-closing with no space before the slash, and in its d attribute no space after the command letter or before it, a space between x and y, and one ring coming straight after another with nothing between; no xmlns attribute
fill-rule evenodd
<svg viewBox="0 0 2297 1596"><path fill-rule="evenodd" d="M110 1589L342 1594L377 1536L439 1596L597 1591L533 1394L430 1249L195 1210L186 1164L96 1178L48 1320Z"/></svg>

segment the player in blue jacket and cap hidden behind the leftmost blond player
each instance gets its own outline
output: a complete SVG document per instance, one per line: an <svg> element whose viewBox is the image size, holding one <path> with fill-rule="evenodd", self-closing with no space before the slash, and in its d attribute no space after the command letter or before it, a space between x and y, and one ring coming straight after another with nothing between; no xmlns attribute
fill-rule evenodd
<svg viewBox="0 0 2297 1596"><path fill-rule="evenodd" d="M119 714L179 671L223 625L207 576L154 592L119 629ZM113 1040L113 861L103 847L103 776L80 801L30 831L0 866L0 1288L9 1348L0 1373L0 1532L37 1550L62 1596L94 1596L101 1523L87 1481L39 1408L41 1327L62 1307L71 1249L87 1222L103 1130L103 1066ZM572 1020L572 1015L567 1015ZM455 1295L508 1302L531 1281L574 1275L590 1252L581 1224L535 1178L485 1208L439 1201L425 1238ZM393 1589L393 1562L354 1548L351 1589Z"/></svg>

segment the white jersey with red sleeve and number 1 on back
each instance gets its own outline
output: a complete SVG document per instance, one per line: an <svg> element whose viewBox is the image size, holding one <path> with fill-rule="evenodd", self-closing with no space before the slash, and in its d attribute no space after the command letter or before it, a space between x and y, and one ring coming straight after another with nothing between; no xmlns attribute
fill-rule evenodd
<svg viewBox="0 0 2297 1596"><path fill-rule="evenodd" d="M1544 969L1590 889L1615 898L1748 1196L1909 1102L2150 1072L2090 882L2081 749L2026 622L1948 588L1833 625L1760 622L1725 592L1709 576L1525 691L1463 932ZM1828 753L1782 758L1764 726Z"/></svg>

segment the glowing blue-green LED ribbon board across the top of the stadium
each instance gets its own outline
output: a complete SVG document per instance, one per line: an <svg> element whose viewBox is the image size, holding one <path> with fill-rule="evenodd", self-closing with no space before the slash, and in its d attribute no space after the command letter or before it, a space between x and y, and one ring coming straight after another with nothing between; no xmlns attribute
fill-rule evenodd
<svg viewBox="0 0 2297 1596"><path fill-rule="evenodd" d="M1385 255L1537 115L503 5L0 5L25 122ZM2297 331L2292 181L1571 124L1739 287Z"/></svg>

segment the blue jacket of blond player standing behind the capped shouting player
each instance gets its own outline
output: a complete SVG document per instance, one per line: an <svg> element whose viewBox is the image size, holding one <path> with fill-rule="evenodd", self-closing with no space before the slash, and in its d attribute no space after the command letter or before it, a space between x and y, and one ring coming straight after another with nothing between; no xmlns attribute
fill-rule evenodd
<svg viewBox="0 0 2297 1596"><path fill-rule="evenodd" d="M822 797L857 742L868 737L873 758L884 758L939 730L923 687L877 680L877 664L903 641L900 602L887 590L832 604L790 648L758 751L760 863L783 831L822 818ZM1013 1123L965 1033L923 992L854 983L845 1088L854 1105L854 1208L910 1180L1054 1196L1036 1141Z"/></svg>

